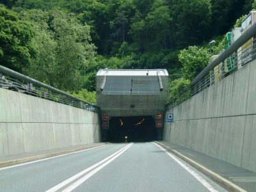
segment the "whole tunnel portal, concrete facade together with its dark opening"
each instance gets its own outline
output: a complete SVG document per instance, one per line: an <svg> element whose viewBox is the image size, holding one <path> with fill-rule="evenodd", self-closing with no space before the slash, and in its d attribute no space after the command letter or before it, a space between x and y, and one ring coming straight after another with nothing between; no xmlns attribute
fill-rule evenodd
<svg viewBox="0 0 256 192"><path fill-rule="evenodd" d="M101 141L161 140L169 88L166 69L106 68L97 72L96 80Z"/></svg>

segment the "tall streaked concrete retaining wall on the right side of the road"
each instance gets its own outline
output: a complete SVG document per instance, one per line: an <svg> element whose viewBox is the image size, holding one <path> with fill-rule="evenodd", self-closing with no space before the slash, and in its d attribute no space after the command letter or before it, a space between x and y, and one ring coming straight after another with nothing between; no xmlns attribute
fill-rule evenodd
<svg viewBox="0 0 256 192"><path fill-rule="evenodd" d="M256 60L166 113L164 141L256 172Z"/></svg>

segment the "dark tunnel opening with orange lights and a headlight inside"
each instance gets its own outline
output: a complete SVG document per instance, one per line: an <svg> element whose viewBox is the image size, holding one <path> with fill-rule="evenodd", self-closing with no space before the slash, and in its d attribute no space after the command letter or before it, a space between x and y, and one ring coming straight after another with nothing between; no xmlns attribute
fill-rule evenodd
<svg viewBox="0 0 256 192"><path fill-rule="evenodd" d="M111 142L141 142L157 139L152 116L122 116L109 120L108 138Z"/></svg>

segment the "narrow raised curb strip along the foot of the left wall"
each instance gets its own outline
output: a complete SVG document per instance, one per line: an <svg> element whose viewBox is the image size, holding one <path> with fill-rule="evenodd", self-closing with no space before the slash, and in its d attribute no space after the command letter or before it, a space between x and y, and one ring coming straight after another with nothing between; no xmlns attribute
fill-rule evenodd
<svg viewBox="0 0 256 192"><path fill-rule="evenodd" d="M100 147L102 145L108 145L108 144L109 143L103 143L103 144L99 144L99 145L93 145L93 146L88 146L88 147L75 148L75 149L72 149L72 150L65 150L65 151L61 151L61 152L55 152L55 153L52 153L52 154L42 154L42 155L33 156L33 157L26 157L26 158L22 158L22 159L4 161L4 162L0 162L0 168L4 168L4 167L7 167L7 166L12 166L12 165L15 165L15 164L28 163L30 161L36 161L36 160L45 159L45 158L54 157L54 156L60 156L60 155L63 155L63 154L70 154L72 152L77 152L79 150L85 150L85 149L89 149L89 148Z"/></svg>

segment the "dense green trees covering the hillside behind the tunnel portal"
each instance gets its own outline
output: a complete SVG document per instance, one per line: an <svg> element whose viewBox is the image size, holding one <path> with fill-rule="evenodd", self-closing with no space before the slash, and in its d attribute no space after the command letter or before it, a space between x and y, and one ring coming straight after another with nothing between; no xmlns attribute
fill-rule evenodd
<svg viewBox="0 0 256 192"><path fill-rule="evenodd" d="M207 65L208 42L214 38L220 51L223 34L255 6L253 0L0 3L1 65L91 102L95 74L106 67L167 68L176 79L173 97Z"/></svg>

